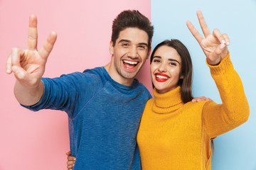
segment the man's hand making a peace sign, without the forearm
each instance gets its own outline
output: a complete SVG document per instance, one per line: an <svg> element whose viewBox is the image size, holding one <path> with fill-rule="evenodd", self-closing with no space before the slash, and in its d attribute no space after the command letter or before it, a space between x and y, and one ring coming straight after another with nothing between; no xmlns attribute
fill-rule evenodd
<svg viewBox="0 0 256 170"><path fill-rule="evenodd" d="M50 33L45 44L38 51L37 18L31 15L29 17L28 48L15 47L11 50L11 55L9 55L6 62L7 74L14 72L17 81L28 88L38 86L56 39L57 34L55 32Z"/></svg>

